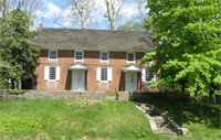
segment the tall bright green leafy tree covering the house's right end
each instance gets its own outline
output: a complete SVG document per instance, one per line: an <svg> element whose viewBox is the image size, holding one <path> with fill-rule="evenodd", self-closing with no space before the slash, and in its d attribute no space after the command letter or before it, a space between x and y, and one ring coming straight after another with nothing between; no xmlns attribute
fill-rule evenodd
<svg viewBox="0 0 221 140"><path fill-rule="evenodd" d="M221 84L221 2L219 0L148 0L154 41L159 46L143 58L155 58L151 74L165 85L198 96L213 94Z"/></svg>

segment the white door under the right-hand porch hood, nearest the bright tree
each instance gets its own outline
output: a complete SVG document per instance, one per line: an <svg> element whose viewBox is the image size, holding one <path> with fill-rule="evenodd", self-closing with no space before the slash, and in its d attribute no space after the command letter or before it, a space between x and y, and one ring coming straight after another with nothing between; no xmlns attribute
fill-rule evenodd
<svg viewBox="0 0 221 140"><path fill-rule="evenodd" d="M137 91L137 73L136 72L125 73L125 90Z"/></svg>

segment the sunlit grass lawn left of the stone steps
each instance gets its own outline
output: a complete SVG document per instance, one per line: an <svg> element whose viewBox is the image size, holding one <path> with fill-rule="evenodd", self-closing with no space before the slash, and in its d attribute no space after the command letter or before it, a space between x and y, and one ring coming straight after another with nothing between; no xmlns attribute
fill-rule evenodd
<svg viewBox="0 0 221 140"><path fill-rule="evenodd" d="M78 108L82 103L96 104ZM129 101L18 99L0 101L0 139L160 138Z"/></svg>

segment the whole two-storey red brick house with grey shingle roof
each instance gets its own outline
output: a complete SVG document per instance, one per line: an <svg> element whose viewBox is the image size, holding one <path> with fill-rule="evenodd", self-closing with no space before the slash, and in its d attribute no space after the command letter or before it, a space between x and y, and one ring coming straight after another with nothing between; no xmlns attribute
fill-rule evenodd
<svg viewBox="0 0 221 140"><path fill-rule="evenodd" d="M33 89L157 91L147 88L149 64L140 60L157 47L152 33L138 31L41 29L32 44L41 50Z"/></svg>

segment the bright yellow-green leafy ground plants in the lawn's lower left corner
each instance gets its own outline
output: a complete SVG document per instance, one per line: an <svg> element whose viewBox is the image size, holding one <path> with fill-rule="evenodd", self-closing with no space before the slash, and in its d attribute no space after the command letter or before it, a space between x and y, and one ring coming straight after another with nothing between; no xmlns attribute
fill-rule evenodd
<svg viewBox="0 0 221 140"><path fill-rule="evenodd" d="M39 119L13 117L10 115L0 118L0 136L36 136L44 128Z"/></svg>

